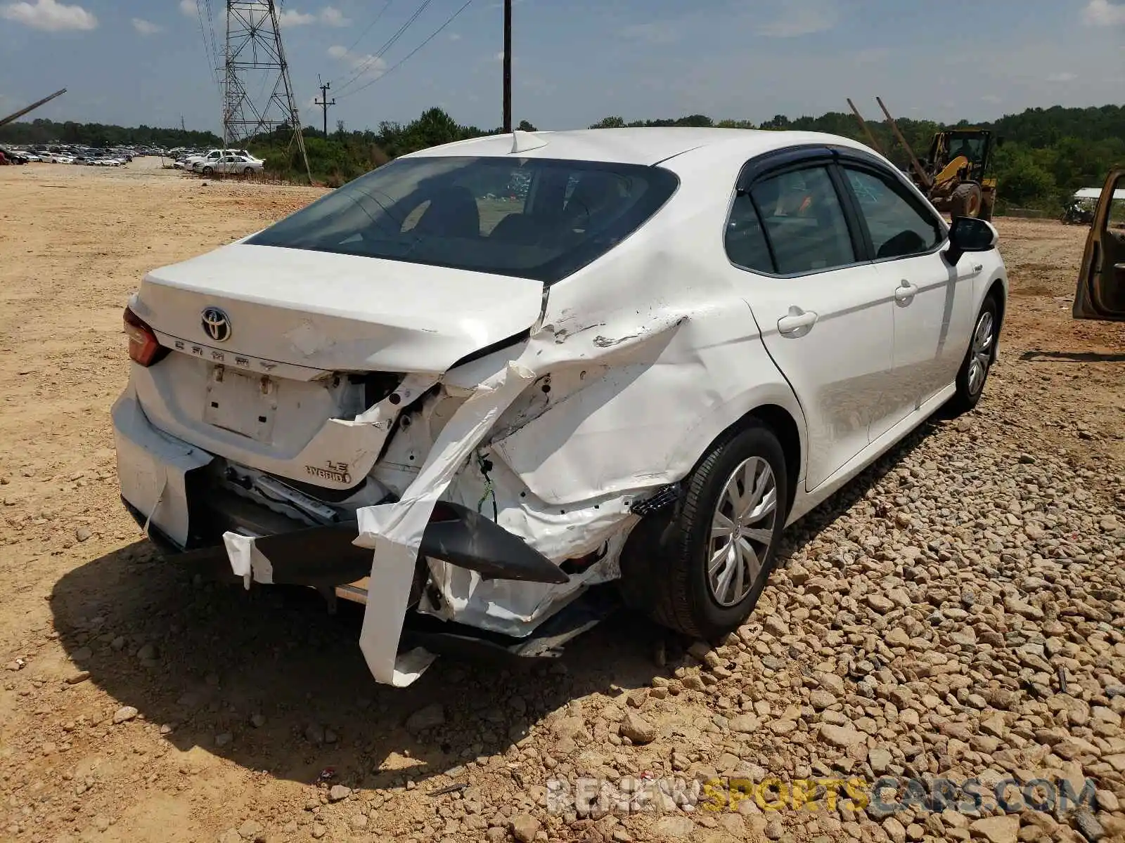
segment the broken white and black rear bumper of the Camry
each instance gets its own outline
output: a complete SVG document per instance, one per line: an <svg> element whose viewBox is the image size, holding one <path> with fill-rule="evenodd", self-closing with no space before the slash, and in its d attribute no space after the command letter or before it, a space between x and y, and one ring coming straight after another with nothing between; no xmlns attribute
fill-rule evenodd
<svg viewBox="0 0 1125 843"><path fill-rule="evenodd" d="M152 541L178 562L248 584L248 574L261 582L333 587L371 573L371 550L354 544L356 520L308 526L215 488L206 480L214 457L153 427L132 390L114 405L112 419L122 500ZM418 555L485 579L569 580L520 537L452 502L434 507ZM243 563L252 558L250 571L240 565L240 556Z"/></svg>

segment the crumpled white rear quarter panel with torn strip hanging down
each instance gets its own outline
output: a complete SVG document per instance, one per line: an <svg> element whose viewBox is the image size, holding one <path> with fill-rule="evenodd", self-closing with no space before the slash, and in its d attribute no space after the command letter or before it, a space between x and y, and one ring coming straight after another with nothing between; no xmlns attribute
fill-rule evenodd
<svg viewBox="0 0 1125 843"><path fill-rule="evenodd" d="M371 577L380 583L368 601L361 646L379 681L395 681L417 549L439 498L480 505L484 513L495 506L501 526L559 564L609 547L566 584L482 580L429 561L441 601L424 599L420 610L528 635L593 582L619 575L639 496L682 479L710 442L755 407L776 404L800 418L744 301L693 299L682 279L702 270L672 253L646 253L640 269L637 255L620 260L630 277L645 279L645 300L658 305L638 314L609 284L552 288L542 327L514 361L504 369L495 359L477 361L485 377L476 386L464 372L447 375L444 395L469 397L402 500L359 510L357 544L375 550ZM760 379L754 377L759 371ZM544 400L547 378L570 386ZM532 383L538 389L528 389Z"/></svg>

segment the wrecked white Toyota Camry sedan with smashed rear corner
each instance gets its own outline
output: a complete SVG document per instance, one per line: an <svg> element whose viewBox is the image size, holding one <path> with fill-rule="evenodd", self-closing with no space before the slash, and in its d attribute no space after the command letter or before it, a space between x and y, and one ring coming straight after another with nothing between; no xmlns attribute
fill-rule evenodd
<svg viewBox="0 0 1125 843"><path fill-rule="evenodd" d="M381 682L609 593L713 638L788 524L976 402L1006 300L992 226L843 137L450 144L144 278L122 497L170 562L366 604Z"/></svg>

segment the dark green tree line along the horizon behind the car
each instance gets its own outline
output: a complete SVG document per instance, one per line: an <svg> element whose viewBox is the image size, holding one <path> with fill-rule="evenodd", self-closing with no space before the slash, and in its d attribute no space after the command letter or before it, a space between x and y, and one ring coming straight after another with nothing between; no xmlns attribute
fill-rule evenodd
<svg viewBox="0 0 1125 843"><path fill-rule="evenodd" d="M898 119L898 127L916 154L924 155L930 138L940 128L964 128L965 120L943 125L933 120ZM1109 167L1125 163L1125 107L1032 108L1018 115L972 124L992 129L1005 139L994 157L994 174L999 179L1001 209L1008 207L1054 210L1078 188L1100 185ZM706 115L626 121L611 116L591 128L640 126L716 126L741 129L800 129L826 132L867 142L850 114L829 111L820 117L789 118L776 115L760 124L749 120L714 120ZM868 123L880 148L899 166L907 166L909 156L882 120ZM526 120L519 126L524 132L536 127ZM430 108L410 123L380 123L378 129L348 130L342 121L336 130L325 135L312 126L304 129L313 176L321 183L339 185L372 170L398 155L429 146L495 135L500 128L480 128L458 124L440 108ZM289 132L279 129L254 138L250 146L262 155L269 169L281 176L299 179L304 164ZM150 126L125 128L102 124L53 123L36 119L0 127L0 143L50 143L115 146L152 144L164 147L210 147L222 143L209 132L184 132Z"/></svg>

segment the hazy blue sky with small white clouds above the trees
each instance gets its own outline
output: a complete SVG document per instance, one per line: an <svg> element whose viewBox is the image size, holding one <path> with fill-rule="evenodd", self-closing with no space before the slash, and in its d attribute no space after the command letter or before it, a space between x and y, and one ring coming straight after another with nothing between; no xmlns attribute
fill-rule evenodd
<svg viewBox="0 0 1125 843"><path fill-rule="evenodd" d="M197 2L209 30L208 0L0 0L0 114L65 87L35 116L156 126L182 116L217 129ZM406 121L434 105L500 125L496 0L472 0L380 75L464 0L431 0L378 55L420 2L390 0L371 26L386 0L285 0L303 123L320 124L320 74L339 103L330 127ZM209 4L222 38L225 2ZM758 121L846 110L849 96L873 118L875 94L906 117L983 119L1120 103L1125 92L1125 0L516 0L513 17L514 116L539 128L608 115Z"/></svg>

